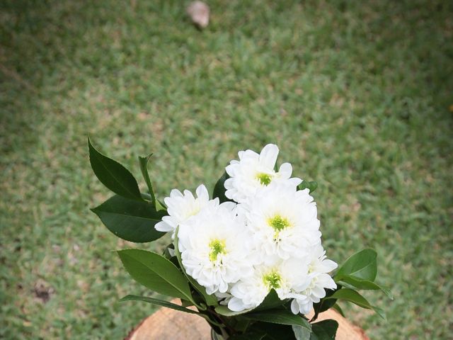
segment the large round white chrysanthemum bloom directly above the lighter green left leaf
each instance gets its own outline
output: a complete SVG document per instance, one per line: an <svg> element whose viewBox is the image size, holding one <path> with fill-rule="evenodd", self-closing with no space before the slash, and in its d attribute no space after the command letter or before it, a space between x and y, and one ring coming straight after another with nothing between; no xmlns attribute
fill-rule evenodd
<svg viewBox="0 0 453 340"><path fill-rule="evenodd" d="M229 283L250 276L253 254L250 235L236 215L236 204L219 205L215 198L178 229L178 248L188 275L206 288L208 294L225 293Z"/></svg>

